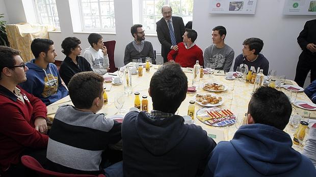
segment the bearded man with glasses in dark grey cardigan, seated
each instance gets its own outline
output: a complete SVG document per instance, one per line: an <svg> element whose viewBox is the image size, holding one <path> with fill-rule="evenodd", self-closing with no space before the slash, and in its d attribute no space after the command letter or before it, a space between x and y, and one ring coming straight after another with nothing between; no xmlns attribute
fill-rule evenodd
<svg viewBox="0 0 316 177"><path fill-rule="evenodd" d="M143 25L141 24L135 24L130 27L130 33L134 40L128 43L125 47L125 65L133 61L133 59L142 59L142 62L144 63L146 57L150 57L152 63L156 64L152 44L145 40L145 30L143 30L142 27Z"/></svg>

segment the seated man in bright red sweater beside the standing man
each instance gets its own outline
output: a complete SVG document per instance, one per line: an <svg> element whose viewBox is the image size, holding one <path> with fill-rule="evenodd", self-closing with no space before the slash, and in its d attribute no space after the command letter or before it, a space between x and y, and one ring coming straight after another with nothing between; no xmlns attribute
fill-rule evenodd
<svg viewBox="0 0 316 177"><path fill-rule="evenodd" d="M200 65L203 67L203 51L194 43L197 38L197 32L187 28L182 37L183 42L178 44L178 50L171 50L168 53L168 61L175 58L175 62L182 67L193 67L196 60L199 60Z"/></svg>

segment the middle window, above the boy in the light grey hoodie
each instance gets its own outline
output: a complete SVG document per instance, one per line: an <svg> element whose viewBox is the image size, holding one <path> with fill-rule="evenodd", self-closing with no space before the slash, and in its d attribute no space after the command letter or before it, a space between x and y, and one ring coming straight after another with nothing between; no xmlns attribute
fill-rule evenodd
<svg viewBox="0 0 316 177"><path fill-rule="evenodd" d="M115 32L114 0L79 0L83 31Z"/></svg>

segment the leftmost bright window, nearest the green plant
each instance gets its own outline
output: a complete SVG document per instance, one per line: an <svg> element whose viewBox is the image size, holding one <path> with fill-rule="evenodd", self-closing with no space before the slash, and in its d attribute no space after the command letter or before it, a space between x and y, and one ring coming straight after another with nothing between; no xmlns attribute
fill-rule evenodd
<svg viewBox="0 0 316 177"><path fill-rule="evenodd" d="M50 24L60 30L56 0L34 0L37 21L40 24Z"/></svg>

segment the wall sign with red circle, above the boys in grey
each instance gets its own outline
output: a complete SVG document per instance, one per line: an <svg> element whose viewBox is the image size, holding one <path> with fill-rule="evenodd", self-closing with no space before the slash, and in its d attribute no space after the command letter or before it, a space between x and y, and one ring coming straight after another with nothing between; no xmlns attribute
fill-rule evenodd
<svg viewBox="0 0 316 177"><path fill-rule="evenodd" d="M211 14L254 14L256 0L210 0L209 13Z"/></svg>

